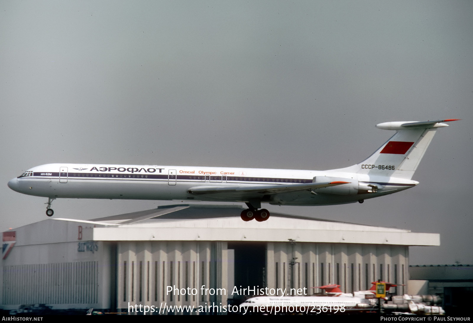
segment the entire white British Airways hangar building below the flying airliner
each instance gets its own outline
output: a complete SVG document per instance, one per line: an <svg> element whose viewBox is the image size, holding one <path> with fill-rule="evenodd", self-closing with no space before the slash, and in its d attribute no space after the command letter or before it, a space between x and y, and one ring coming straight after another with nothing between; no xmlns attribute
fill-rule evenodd
<svg viewBox="0 0 473 323"><path fill-rule="evenodd" d="M126 312L136 304L155 306L157 314L161 303L238 304L265 287L280 296L280 289L289 295L291 288L312 295L321 291L313 287L327 284L365 290L378 279L405 285L409 246L440 244L434 233L288 214L245 222L242 210L168 205L91 221L47 219L3 232L2 307Z"/></svg>

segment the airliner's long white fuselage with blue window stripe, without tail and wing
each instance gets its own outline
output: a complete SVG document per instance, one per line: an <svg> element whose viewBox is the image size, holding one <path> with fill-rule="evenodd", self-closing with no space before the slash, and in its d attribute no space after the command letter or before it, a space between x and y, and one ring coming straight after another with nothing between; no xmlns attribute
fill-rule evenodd
<svg viewBox="0 0 473 323"><path fill-rule="evenodd" d="M270 204L344 204L395 193L418 184L410 179L335 170L57 163L33 167L10 180L8 186L23 194L50 198L248 202L255 193L246 192L245 188L312 183L316 177L343 178L350 183L312 192L298 190L262 194L259 199ZM376 185L377 192L368 193L364 188L366 185ZM243 189L200 195L189 192L202 187Z"/></svg>

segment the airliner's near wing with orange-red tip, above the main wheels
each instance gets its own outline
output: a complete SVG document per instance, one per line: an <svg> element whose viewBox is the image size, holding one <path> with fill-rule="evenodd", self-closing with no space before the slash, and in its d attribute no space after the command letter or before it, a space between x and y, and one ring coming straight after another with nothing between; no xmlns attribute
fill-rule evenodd
<svg viewBox="0 0 473 323"><path fill-rule="evenodd" d="M335 181L326 183L302 183L302 184L278 184L278 185L259 185L254 186L217 186L217 187L193 187L188 190L190 194L219 194L219 193L258 193L258 194L279 194L297 191L312 190L316 188L331 187L337 185L349 184L349 182Z"/></svg>

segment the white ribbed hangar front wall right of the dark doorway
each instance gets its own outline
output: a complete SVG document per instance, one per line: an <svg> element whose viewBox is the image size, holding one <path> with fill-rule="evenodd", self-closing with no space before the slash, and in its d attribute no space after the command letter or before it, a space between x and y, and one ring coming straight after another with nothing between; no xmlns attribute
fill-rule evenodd
<svg viewBox="0 0 473 323"><path fill-rule="evenodd" d="M269 242L267 281L272 288L306 288L308 295L321 291L312 287L328 284L351 293L371 288L378 279L405 284L408 262L407 246ZM284 280L286 274L290 280ZM404 288L391 292L403 295Z"/></svg>

